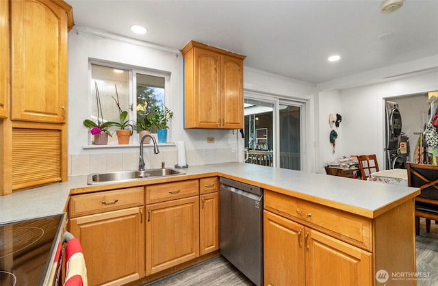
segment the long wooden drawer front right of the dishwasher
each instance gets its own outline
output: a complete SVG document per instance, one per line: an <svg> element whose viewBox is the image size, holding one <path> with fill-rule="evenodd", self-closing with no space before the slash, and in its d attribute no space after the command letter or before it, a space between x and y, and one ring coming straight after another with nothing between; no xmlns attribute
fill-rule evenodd
<svg viewBox="0 0 438 286"><path fill-rule="evenodd" d="M265 209L371 250L372 228L368 218L268 190L264 197Z"/></svg>

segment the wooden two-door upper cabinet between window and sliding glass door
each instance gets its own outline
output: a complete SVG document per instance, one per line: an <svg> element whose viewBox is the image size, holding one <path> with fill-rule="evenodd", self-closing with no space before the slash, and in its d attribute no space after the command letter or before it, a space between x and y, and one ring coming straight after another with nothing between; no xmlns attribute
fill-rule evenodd
<svg viewBox="0 0 438 286"><path fill-rule="evenodd" d="M184 127L243 128L245 56L191 41L184 56Z"/></svg>

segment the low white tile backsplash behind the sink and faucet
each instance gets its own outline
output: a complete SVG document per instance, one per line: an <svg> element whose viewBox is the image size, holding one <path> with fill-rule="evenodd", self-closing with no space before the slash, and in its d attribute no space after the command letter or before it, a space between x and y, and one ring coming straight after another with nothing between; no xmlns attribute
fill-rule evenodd
<svg viewBox="0 0 438 286"><path fill-rule="evenodd" d="M137 170L139 155L137 150L123 153L69 155L68 176ZM185 156L189 166L237 161L237 153L232 152L231 148L186 150ZM160 149L159 154L154 154L153 151L144 151L145 168L161 168L162 161L166 163L168 168L175 167L178 161L177 149Z"/></svg>

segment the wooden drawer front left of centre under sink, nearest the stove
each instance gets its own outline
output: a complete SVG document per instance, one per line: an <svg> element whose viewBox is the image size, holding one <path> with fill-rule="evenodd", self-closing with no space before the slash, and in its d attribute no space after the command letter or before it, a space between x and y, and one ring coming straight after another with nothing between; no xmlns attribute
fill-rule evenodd
<svg viewBox="0 0 438 286"><path fill-rule="evenodd" d="M70 218L144 205L144 187L70 197Z"/></svg>

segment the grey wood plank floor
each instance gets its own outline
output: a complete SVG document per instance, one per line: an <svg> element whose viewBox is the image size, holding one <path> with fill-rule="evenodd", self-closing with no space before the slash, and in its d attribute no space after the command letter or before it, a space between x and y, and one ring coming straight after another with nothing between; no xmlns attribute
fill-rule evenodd
<svg viewBox="0 0 438 286"><path fill-rule="evenodd" d="M426 233L421 220L420 235L416 237L417 286L438 285L438 225L432 222ZM186 270L158 279L143 286L246 286L254 285L223 257L215 257Z"/></svg>

